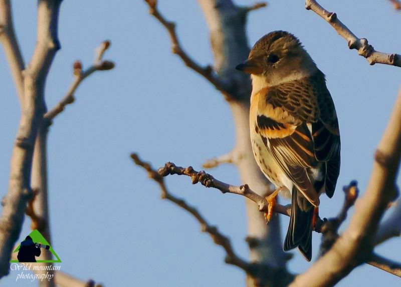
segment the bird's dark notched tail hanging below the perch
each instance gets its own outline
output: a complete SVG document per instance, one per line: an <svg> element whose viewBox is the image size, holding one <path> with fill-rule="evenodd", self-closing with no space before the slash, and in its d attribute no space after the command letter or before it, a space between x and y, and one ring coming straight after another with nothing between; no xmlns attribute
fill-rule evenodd
<svg viewBox="0 0 401 287"><path fill-rule="evenodd" d="M312 258L313 205L294 186L292 188L291 216L284 251L298 247L305 258Z"/></svg>

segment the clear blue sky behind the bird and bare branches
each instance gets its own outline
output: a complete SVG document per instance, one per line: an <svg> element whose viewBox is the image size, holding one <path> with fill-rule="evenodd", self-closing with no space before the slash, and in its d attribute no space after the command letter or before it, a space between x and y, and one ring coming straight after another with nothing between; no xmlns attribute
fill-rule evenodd
<svg viewBox="0 0 401 287"><path fill-rule="evenodd" d="M197 3L159 2L162 13L177 23L185 50L199 63L212 63L209 34ZM320 3L376 50L401 52L401 38L394 37L399 34L401 14L387 1ZM27 61L36 42L36 3L13 1L13 5ZM269 2L268 8L250 14L247 30L250 45L273 30L295 34L326 74L339 118L342 166L336 193L331 200L322 198L320 212L333 216L342 204L343 185L356 179L362 193L366 187L373 152L400 86L401 70L369 66L327 23L306 11L302 0ZM76 92L76 102L55 120L49 133L52 245L63 261L62 270L82 279L94 278L105 286L244 286L244 273L223 262L222 249L199 231L194 219L160 200L156 184L129 158L130 152L137 151L155 167L173 161L199 169L205 159L228 152L235 139L227 103L171 54L166 32L148 15L143 1L63 2L62 49L48 78L48 107L67 91L72 63L79 59L84 67L90 65L94 48L106 39L112 46L105 59L113 60L116 68L88 78ZM0 196L4 196L20 107L3 52L0 67ZM221 166L212 173L232 184L240 183L232 166ZM245 204L240 196L192 186L183 177L170 177L167 185L231 236L238 252L247 256ZM26 220L21 238L30 232L29 224ZM288 218L282 224L284 232ZM317 254L320 235L313 236ZM397 240L389 240L377 252L400 258ZM290 270L307 269L310 263L298 252L294 254ZM12 273L2 283L33 285L16 283L15 277ZM394 286L399 280L363 265L338 286L356 284Z"/></svg>

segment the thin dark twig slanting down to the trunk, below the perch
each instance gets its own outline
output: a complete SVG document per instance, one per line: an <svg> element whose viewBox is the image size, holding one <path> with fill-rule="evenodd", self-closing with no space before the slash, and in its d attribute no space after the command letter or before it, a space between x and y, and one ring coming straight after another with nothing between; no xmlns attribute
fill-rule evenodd
<svg viewBox="0 0 401 287"><path fill-rule="evenodd" d="M201 230L203 232L208 232L213 241L224 248L224 250L226 251L226 263L238 266L244 271L249 272L250 263L246 262L235 253L230 239L226 235L222 234L216 226L210 225L208 221L204 218L204 216L200 214L199 211L197 211L196 208L187 204L183 199L177 198L170 192L168 192L164 184L164 175L162 175L160 171L155 171L154 169L152 169L150 164L143 162L135 153L131 154L131 158L136 165L144 168L147 171L149 178L153 179L159 184L162 199L167 199L188 211L199 222Z"/></svg>

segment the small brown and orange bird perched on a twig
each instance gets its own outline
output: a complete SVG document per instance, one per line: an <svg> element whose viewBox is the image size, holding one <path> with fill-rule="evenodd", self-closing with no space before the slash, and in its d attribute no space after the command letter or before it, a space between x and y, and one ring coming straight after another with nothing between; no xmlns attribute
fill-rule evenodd
<svg viewBox="0 0 401 287"><path fill-rule="evenodd" d="M251 74L250 133L256 162L276 186L266 199L291 194L284 250L312 258L319 196L331 198L340 172L340 132L325 75L293 34L274 31L256 42L236 67Z"/></svg>

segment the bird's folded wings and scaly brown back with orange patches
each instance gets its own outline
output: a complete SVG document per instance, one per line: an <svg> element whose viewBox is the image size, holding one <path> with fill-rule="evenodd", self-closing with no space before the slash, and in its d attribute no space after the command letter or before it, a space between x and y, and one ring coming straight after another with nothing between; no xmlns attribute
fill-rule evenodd
<svg viewBox="0 0 401 287"><path fill-rule="evenodd" d="M324 75L291 81L263 93L259 95L256 131L286 176L317 206L319 197L307 169L324 162L329 191L334 191L339 170L338 123Z"/></svg>

